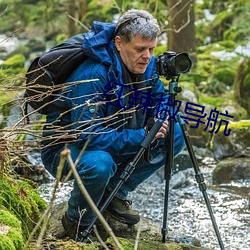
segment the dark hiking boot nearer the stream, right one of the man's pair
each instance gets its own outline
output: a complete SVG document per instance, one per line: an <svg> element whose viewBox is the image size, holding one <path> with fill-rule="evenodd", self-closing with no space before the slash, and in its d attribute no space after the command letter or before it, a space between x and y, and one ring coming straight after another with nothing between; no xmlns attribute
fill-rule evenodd
<svg viewBox="0 0 250 250"><path fill-rule="evenodd" d="M122 223L134 225L140 221L140 216L130 208L131 205L132 201L114 197L105 211Z"/></svg>

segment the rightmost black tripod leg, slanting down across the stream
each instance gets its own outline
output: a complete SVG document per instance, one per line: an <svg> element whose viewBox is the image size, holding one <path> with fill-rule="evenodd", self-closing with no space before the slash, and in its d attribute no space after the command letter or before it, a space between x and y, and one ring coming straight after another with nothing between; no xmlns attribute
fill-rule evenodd
<svg viewBox="0 0 250 250"><path fill-rule="evenodd" d="M205 203L206 203L206 206L207 206L207 209L208 209L208 212L209 212L209 215L210 215L210 218L211 218L211 221L212 221L212 224L213 224L213 228L214 228L216 237L218 239L220 248L221 248L221 250L224 250L225 247L223 245L223 242L222 242L222 239L221 239L221 236L220 236L220 232L219 232L219 229L218 229L218 226L217 226L214 214L213 214L213 210L212 210L212 207L211 207L211 204L210 204L210 201L208 199L207 192L206 192L207 188L206 188L206 184L204 182L204 177L203 177L203 174L201 173L201 171L199 169L198 162L197 162L197 159L196 159L194 151L193 151L193 147L192 147L191 142L190 142L189 133L188 133L188 130L186 128L186 124L185 124L184 120L181 118L181 115L182 115L181 112L179 112L177 114L177 120L178 120L178 122L179 122L179 124L181 126L181 130L183 132L183 136L184 136L184 139L185 139L185 142L186 142L188 153L189 153L190 159L191 159L191 161L193 163L193 167L194 167L194 171L195 171L195 179L196 179L196 181L197 181L197 183L199 185L200 191L203 194L203 197L204 197L204 200L205 200Z"/></svg>

